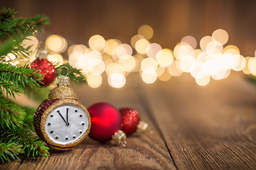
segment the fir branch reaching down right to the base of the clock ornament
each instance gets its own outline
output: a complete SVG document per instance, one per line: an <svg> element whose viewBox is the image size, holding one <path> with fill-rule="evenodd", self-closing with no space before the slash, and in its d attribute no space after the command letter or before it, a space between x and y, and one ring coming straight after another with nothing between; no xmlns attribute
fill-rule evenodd
<svg viewBox="0 0 256 170"><path fill-rule="evenodd" d="M2 139L6 137L6 141L17 142L23 145L23 150L25 156L30 155L35 158L35 155L41 155L42 157L49 156L49 148L39 141L38 137L34 136L32 132L22 128L17 127L13 129L1 129L0 134L2 134Z"/></svg>

